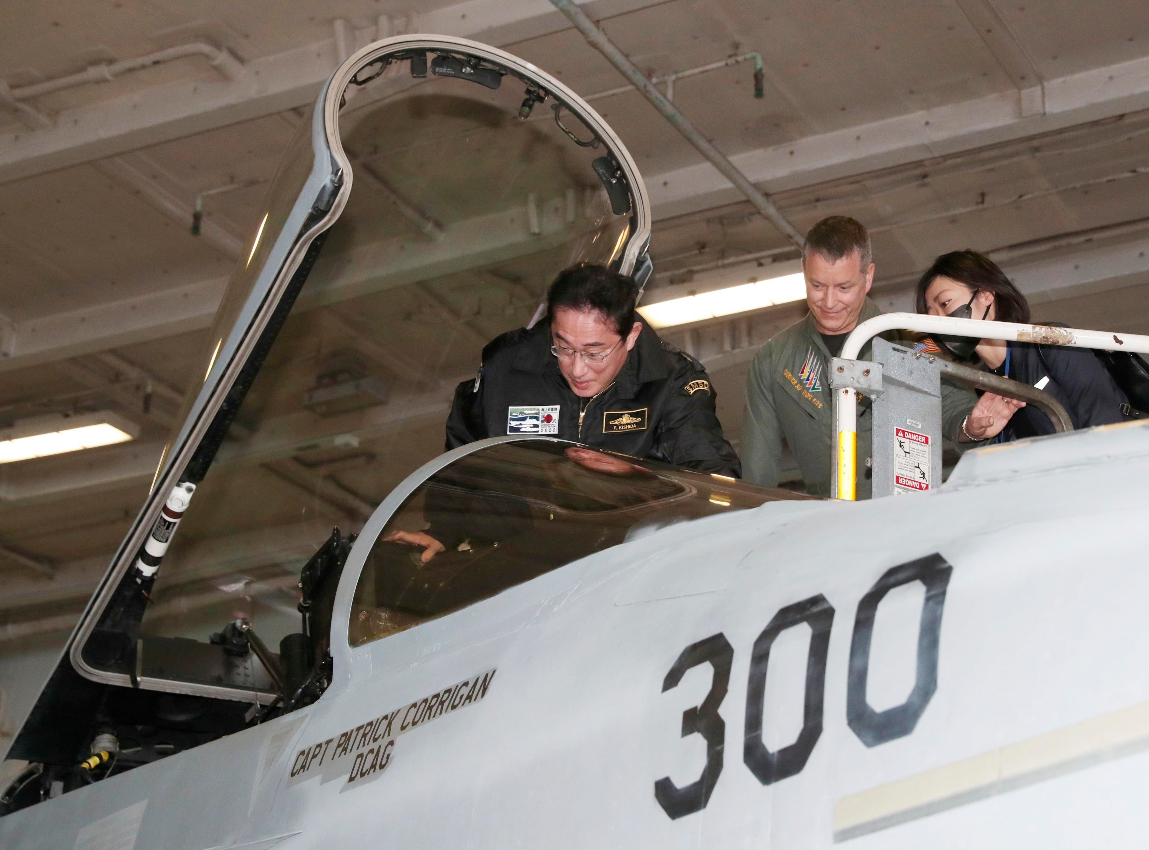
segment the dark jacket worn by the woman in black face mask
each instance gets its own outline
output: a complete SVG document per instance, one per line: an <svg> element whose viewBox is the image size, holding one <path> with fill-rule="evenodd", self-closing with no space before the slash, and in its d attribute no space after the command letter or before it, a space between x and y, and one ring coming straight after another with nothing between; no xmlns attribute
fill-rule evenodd
<svg viewBox="0 0 1149 850"><path fill-rule="evenodd" d="M1005 364L994 371L1003 374ZM1005 377L1044 389L1057 399L1069 412L1074 428L1110 425L1126 419L1120 408L1128 403L1128 399L1088 348L1010 342L1009 374ZM1032 404L1013 414L1004 431L1007 440L1052 433L1054 425L1049 417Z"/></svg>

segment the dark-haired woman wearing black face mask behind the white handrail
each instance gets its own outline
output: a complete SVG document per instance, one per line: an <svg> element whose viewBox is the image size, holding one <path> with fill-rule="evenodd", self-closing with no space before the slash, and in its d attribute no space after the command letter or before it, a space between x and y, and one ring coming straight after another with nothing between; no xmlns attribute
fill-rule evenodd
<svg viewBox="0 0 1149 850"><path fill-rule="evenodd" d="M918 281L917 311L990 322L1030 322L1025 295L996 263L974 250L955 250L934 261ZM1065 407L1075 428L1126 418L1120 408L1128 400L1088 349L966 337L934 339L962 360L977 354L987 370L1044 389ZM1025 408L1024 402L1008 399L1002 401L1018 412L1001 439L1054 433L1052 423L1036 408Z"/></svg>

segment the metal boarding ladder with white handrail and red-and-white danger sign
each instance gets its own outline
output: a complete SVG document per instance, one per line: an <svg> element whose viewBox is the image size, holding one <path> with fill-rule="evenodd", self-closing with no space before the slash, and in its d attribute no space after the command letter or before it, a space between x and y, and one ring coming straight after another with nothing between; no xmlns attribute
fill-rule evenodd
<svg viewBox="0 0 1149 850"><path fill-rule="evenodd" d="M867 319L854 329L842 346L841 356L834 357L830 366L834 414L831 495L834 499L853 501L857 495L859 393L873 399L873 450L870 457L874 497L930 490L941 485L943 374L953 382L988 389L1034 404L1050 418L1055 431L1072 430L1065 409L1048 393L942 357L873 339L879 333L894 330L1149 354L1149 337L1138 334L912 312L888 312ZM857 360L858 353L871 339L873 360Z"/></svg>

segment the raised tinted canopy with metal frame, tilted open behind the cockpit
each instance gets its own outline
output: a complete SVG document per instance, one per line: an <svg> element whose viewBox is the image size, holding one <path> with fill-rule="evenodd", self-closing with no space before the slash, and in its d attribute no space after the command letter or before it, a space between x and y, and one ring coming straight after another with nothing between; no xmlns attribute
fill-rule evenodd
<svg viewBox="0 0 1149 850"><path fill-rule="evenodd" d="M108 687L268 702L267 671L221 662L211 632L242 617L275 647L298 628L301 565L440 454L483 345L527 324L573 263L645 280L649 227L622 142L533 65L432 36L347 60L299 118L203 384L11 755L44 759L54 734L70 758L60 729ZM141 547L186 484L186 516L141 582Z"/></svg>

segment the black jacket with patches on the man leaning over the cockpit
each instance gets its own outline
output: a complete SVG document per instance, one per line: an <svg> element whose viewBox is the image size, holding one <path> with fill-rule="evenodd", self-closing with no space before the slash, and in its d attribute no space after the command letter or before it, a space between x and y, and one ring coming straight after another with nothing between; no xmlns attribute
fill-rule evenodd
<svg viewBox="0 0 1149 850"><path fill-rule="evenodd" d="M550 325L540 322L489 342L476 380L455 389L447 449L501 434L553 434L633 457L740 477L738 455L723 438L705 369L658 338L649 325L611 384L580 403L550 353Z"/></svg>

